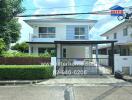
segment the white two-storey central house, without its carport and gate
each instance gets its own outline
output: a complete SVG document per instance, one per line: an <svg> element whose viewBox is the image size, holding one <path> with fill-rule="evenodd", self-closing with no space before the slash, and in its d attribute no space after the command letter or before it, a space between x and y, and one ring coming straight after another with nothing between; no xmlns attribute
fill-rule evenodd
<svg viewBox="0 0 132 100"><path fill-rule="evenodd" d="M33 28L29 40L29 52L45 53L46 48L56 50L58 58L87 58L90 46L61 46L57 41L86 41L96 20L72 18L48 18L24 20Z"/></svg>

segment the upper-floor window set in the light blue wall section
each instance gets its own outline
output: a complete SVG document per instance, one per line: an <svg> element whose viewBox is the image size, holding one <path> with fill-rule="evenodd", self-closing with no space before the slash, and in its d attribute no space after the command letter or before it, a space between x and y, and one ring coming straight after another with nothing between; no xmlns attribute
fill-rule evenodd
<svg viewBox="0 0 132 100"><path fill-rule="evenodd" d="M84 38L85 38L85 28L75 27L75 39L84 39Z"/></svg>

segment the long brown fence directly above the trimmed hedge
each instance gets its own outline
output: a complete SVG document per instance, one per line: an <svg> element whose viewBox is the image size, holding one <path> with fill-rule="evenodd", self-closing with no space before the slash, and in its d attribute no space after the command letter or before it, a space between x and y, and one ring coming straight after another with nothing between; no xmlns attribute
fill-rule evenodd
<svg viewBox="0 0 132 100"><path fill-rule="evenodd" d="M0 65L40 65L50 62L50 58L44 57L0 57Z"/></svg>

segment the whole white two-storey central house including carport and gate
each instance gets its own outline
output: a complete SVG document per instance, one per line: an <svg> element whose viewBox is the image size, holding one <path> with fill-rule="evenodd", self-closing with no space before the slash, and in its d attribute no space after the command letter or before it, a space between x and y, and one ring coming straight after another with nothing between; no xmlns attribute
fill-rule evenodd
<svg viewBox="0 0 132 100"><path fill-rule="evenodd" d="M89 31L97 22L88 19L50 18L30 19L25 22L33 28L30 35L29 53L44 54L55 51L54 73L65 74L111 74L114 72L113 54L109 58L98 58L98 44L109 43L113 51L115 40L89 40ZM96 56L92 56L92 48ZM109 61L110 61L109 60ZM106 61L105 67L102 61ZM112 72L111 72L112 69ZM64 72L63 72L64 71ZM69 72L70 71L70 72ZM61 73L59 73L61 72Z"/></svg>

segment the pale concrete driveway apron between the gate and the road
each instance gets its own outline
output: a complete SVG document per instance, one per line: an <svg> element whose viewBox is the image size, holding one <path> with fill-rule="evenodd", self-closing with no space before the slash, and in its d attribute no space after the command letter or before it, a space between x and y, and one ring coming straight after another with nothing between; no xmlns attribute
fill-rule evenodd
<svg viewBox="0 0 132 100"><path fill-rule="evenodd" d="M67 85L72 84L74 86L92 86L92 85L130 85L130 83L115 79L111 75L99 76L99 75L88 75L88 76L58 76L54 79L43 80L38 85Z"/></svg>

